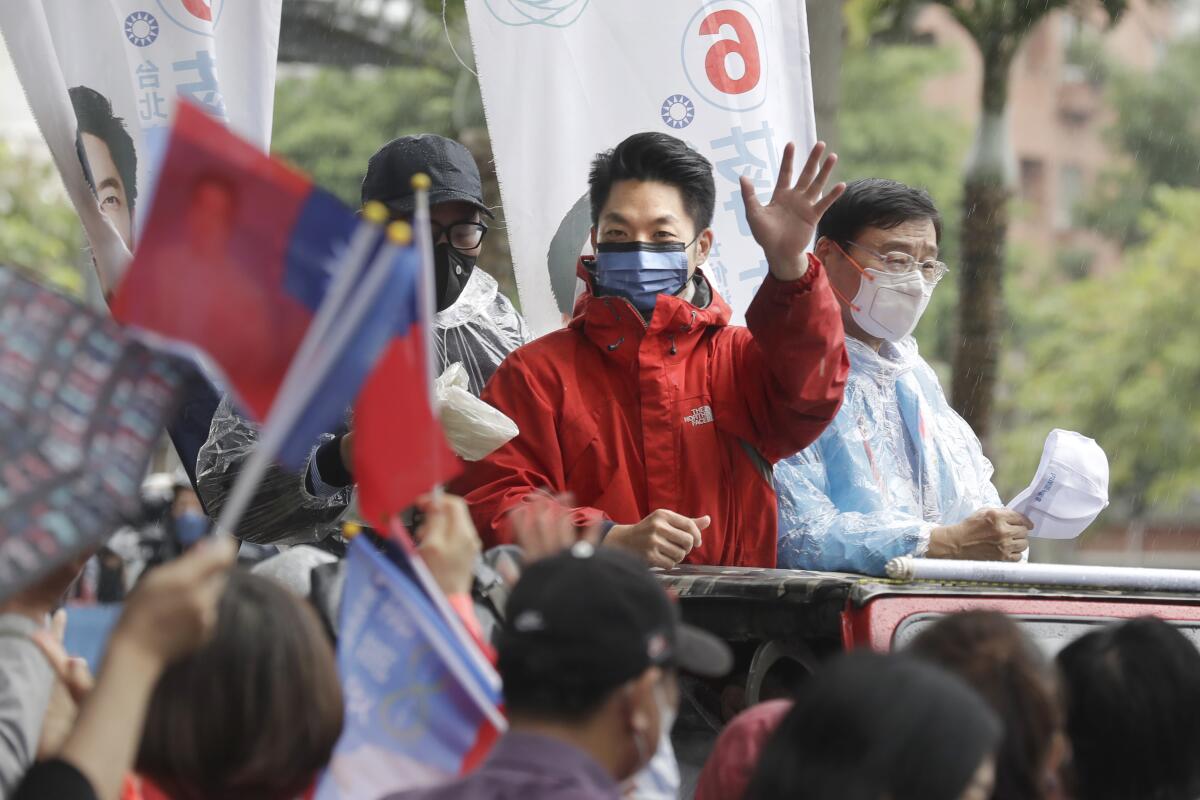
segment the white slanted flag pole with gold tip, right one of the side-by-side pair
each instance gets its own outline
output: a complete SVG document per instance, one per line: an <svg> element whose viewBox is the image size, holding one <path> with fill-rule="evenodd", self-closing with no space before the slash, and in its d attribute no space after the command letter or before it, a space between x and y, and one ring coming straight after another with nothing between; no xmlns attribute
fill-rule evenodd
<svg viewBox="0 0 1200 800"><path fill-rule="evenodd" d="M246 465L239 473L238 480L229 493L228 501L221 509L221 516L217 518L216 524L218 533L227 531L232 535L236 529L241 516L253 499L254 489L258 487L266 469L271 465L276 453L278 453L280 447L287 439L288 432L300 417L313 391L329 374L338 354L346 347L347 341L354 333L362 317L371 309L371 302L395 267L396 249L394 246L407 245L412 241L412 228L407 223L394 222L388 225L386 230L389 242L385 242L379 248L379 252L367 266L358 291L353 293L348 303L343 303L343 306L348 306L344 314L338 314L342 309L334 308L330 305L329 317L331 321L326 325L329 329L329 341L317 342L310 348L301 345L301 349L306 349L308 355L312 356L308 363L301 362L296 357L292 360L287 377L283 380L283 386L276 395L271 413L263 425L258 443L251 451ZM343 265L343 269L346 269L346 265ZM325 311L325 306L326 303L323 302L318 315ZM324 333L323 331L318 332Z"/></svg>

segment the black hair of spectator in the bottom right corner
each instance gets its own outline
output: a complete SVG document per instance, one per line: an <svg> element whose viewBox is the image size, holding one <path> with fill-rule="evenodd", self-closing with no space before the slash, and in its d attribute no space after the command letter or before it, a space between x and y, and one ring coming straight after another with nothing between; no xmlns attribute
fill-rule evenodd
<svg viewBox="0 0 1200 800"><path fill-rule="evenodd" d="M1058 654L1078 800L1200 796L1200 652L1144 616Z"/></svg>

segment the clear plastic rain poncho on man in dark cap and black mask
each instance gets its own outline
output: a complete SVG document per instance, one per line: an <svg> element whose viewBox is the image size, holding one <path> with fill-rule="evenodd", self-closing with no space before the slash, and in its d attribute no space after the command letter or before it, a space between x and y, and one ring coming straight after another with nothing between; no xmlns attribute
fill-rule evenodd
<svg viewBox="0 0 1200 800"><path fill-rule="evenodd" d="M487 272L475 269L452 306L434 317L439 373L462 363L470 392L479 395L504 357L529 341L529 330ZM332 434L324 437L331 439ZM209 439L196 461L197 485L205 507L220 516L226 497L258 439L258 427L242 417L229 398L221 401ZM313 443L313 449L320 441ZM313 494L307 468L271 467L238 525L236 536L256 545L318 542L340 529L350 504L350 488Z"/></svg>

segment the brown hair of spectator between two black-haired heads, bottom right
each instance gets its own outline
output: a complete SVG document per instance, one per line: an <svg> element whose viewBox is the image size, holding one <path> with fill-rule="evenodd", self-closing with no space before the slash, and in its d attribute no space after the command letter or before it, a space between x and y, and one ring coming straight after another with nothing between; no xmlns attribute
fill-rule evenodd
<svg viewBox="0 0 1200 800"><path fill-rule="evenodd" d="M965 680L1003 721L992 800L1040 800L1062 715L1050 663L1016 622L995 612L952 614L910 652Z"/></svg>

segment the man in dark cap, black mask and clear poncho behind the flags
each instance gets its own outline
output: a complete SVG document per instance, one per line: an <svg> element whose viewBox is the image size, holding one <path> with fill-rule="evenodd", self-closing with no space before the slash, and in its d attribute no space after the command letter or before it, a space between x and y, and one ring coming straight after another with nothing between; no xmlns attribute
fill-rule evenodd
<svg viewBox="0 0 1200 800"><path fill-rule="evenodd" d="M462 144L432 133L389 142L367 162L362 205L382 203L394 219L412 222L416 206L413 176L428 175L437 313L433 318L438 372L462 363L475 396L504 357L530 339L524 319L496 279L475 269L492 212L475 161ZM217 517L241 465L257 440L257 428L221 401L200 449L196 471L210 516ZM242 515L239 539L254 545L300 545L329 540L340 551L337 521L349 505L354 475L354 433L331 431L313 451L302 475L272 467Z"/></svg>

